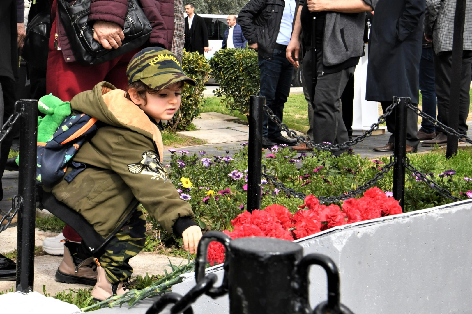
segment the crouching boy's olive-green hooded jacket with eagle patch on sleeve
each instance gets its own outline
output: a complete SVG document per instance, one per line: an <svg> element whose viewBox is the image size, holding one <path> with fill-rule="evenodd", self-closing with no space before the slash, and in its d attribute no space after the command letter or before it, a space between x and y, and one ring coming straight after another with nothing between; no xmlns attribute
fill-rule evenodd
<svg viewBox="0 0 472 314"><path fill-rule="evenodd" d="M73 158L87 166L84 171L70 183L62 180L44 187L104 239L118 231L135 209L129 206L135 198L169 232L179 217L194 219L162 164L159 129L124 95L125 91L101 82L71 100L73 114L85 113L108 125L101 126Z"/></svg>

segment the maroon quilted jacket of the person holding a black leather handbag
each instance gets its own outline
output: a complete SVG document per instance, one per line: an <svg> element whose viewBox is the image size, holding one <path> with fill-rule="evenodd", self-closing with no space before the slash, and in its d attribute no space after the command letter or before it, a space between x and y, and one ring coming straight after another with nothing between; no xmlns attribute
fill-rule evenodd
<svg viewBox="0 0 472 314"><path fill-rule="evenodd" d="M174 0L138 0L144 15L152 26L149 43L166 49L172 46L174 35ZM91 0L89 21L113 22L121 27L125 25L128 0ZM56 29L51 29L51 36L58 34L58 46L66 62L76 61L67 39L64 25L57 15L57 1L51 5L51 17L55 17Z"/></svg>

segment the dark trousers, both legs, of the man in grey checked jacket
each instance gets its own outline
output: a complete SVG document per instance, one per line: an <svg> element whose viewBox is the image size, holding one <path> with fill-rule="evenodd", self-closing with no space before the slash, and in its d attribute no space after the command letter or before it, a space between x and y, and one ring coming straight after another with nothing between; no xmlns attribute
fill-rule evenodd
<svg viewBox="0 0 472 314"><path fill-rule="evenodd" d="M462 54L461 95L459 99L459 133L467 135L467 116L470 106L472 50ZM452 51L434 56L436 97L438 98L438 120L447 125L449 117L449 94L451 92Z"/></svg>

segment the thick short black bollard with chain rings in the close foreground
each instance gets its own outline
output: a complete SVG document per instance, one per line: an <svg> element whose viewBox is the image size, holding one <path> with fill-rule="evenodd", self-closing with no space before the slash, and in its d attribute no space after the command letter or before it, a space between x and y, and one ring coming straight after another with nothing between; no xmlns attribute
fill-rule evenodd
<svg viewBox="0 0 472 314"><path fill-rule="evenodd" d="M294 313L293 275L302 247L253 237L232 240L229 247L229 313Z"/></svg>

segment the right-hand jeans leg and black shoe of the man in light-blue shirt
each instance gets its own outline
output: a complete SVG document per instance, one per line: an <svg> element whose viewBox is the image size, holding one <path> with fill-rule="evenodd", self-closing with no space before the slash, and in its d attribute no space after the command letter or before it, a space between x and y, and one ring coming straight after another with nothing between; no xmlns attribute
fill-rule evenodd
<svg viewBox="0 0 472 314"><path fill-rule="evenodd" d="M285 103L287 102L288 95L290 94L290 87L292 84L292 74L294 72L294 66L288 62L285 57L285 50L278 50L280 53L272 55L272 62L280 64L280 74L278 76L278 82L275 91L273 111L276 116L283 121L283 111ZM269 120L267 135L271 140L274 140L281 136L278 125ZM282 143L283 144L283 143Z"/></svg>

